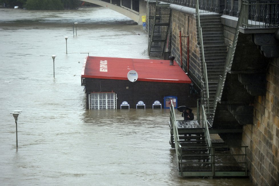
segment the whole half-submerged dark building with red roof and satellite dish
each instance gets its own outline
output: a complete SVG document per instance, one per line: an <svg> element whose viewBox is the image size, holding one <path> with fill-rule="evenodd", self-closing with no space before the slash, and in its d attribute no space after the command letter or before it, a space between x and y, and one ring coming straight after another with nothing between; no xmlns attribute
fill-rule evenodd
<svg viewBox="0 0 279 186"><path fill-rule="evenodd" d="M130 71L135 75L132 80L128 79ZM88 56L81 79L86 109L121 109L121 105L153 108L155 101L169 107L171 98L176 107L197 104L197 94L190 92L191 80L176 62L169 60Z"/></svg>

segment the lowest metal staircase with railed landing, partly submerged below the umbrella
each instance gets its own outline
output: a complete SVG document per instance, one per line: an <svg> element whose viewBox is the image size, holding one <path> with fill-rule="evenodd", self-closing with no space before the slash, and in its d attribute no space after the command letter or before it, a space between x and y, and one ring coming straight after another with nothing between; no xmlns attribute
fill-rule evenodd
<svg viewBox="0 0 279 186"><path fill-rule="evenodd" d="M241 154L231 153L229 149L234 148L233 146L212 146L204 106L203 118L201 124L194 120L177 121L171 101L170 144L176 151L179 175L210 178L247 176L247 146L237 147L244 149L244 153ZM241 157L243 161L237 162L234 156Z"/></svg>

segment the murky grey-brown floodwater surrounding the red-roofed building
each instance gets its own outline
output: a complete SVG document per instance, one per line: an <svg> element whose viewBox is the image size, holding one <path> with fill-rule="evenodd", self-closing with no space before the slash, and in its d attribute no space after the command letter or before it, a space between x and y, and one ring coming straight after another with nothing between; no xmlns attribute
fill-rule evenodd
<svg viewBox="0 0 279 186"><path fill-rule="evenodd" d="M0 35L0 185L252 185L179 177L168 109L85 109L81 53L149 59L147 33L129 18L103 7L0 9Z"/></svg>

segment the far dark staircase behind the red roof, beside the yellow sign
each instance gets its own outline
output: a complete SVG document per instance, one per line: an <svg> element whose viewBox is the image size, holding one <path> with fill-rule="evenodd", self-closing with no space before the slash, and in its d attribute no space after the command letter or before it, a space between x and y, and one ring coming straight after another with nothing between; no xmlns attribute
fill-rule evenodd
<svg viewBox="0 0 279 186"><path fill-rule="evenodd" d="M170 22L168 3L148 1L148 55L163 55Z"/></svg>

